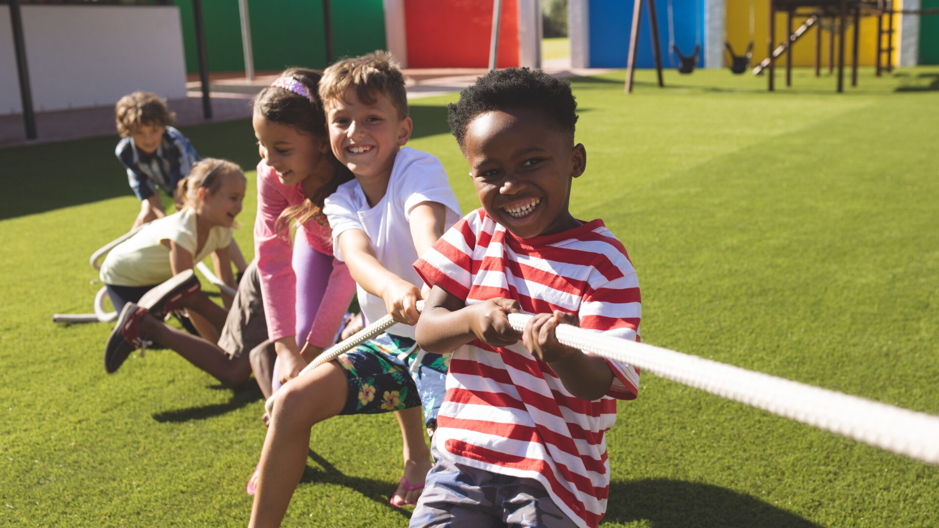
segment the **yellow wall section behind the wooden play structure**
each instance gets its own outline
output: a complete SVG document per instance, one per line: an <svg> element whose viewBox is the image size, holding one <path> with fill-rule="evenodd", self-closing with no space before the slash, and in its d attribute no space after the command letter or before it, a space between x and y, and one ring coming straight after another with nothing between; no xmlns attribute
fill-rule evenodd
<svg viewBox="0 0 939 528"><path fill-rule="evenodd" d="M731 43L733 51L742 54L747 49L750 42L749 17L750 6L753 6L754 14L754 34L753 60L751 64L756 65L767 56L766 34L769 32L769 2L767 0L727 0L727 40ZM901 2L895 2L895 8L900 9ZM897 64L897 49L900 45L900 18L901 15L895 15L894 20L894 53L893 63ZM805 18L793 17L793 31L806 21ZM850 25L850 17L849 17ZM824 24L827 27L827 24ZM886 28L886 20L884 21ZM794 66L813 66L815 64L815 42L818 39L818 24L808 30L795 44L793 44L793 65ZM776 18L776 44L774 48L786 39L786 14L777 12ZM862 66L873 66L874 55L877 46L877 18L861 17L861 33L858 40L857 62ZM822 32L822 64L828 64L828 44L831 33ZM835 61L838 61L838 35L835 35ZM851 64L852 44L854 42L854 26L849 27L844 36L844 63ZM884 39L886 45L886 39ZM785 55L781 55L777 60L784 61ZM724 62L729 61L728 55L724 54ZM778 64L778 63L777 63Z"/></svg>

